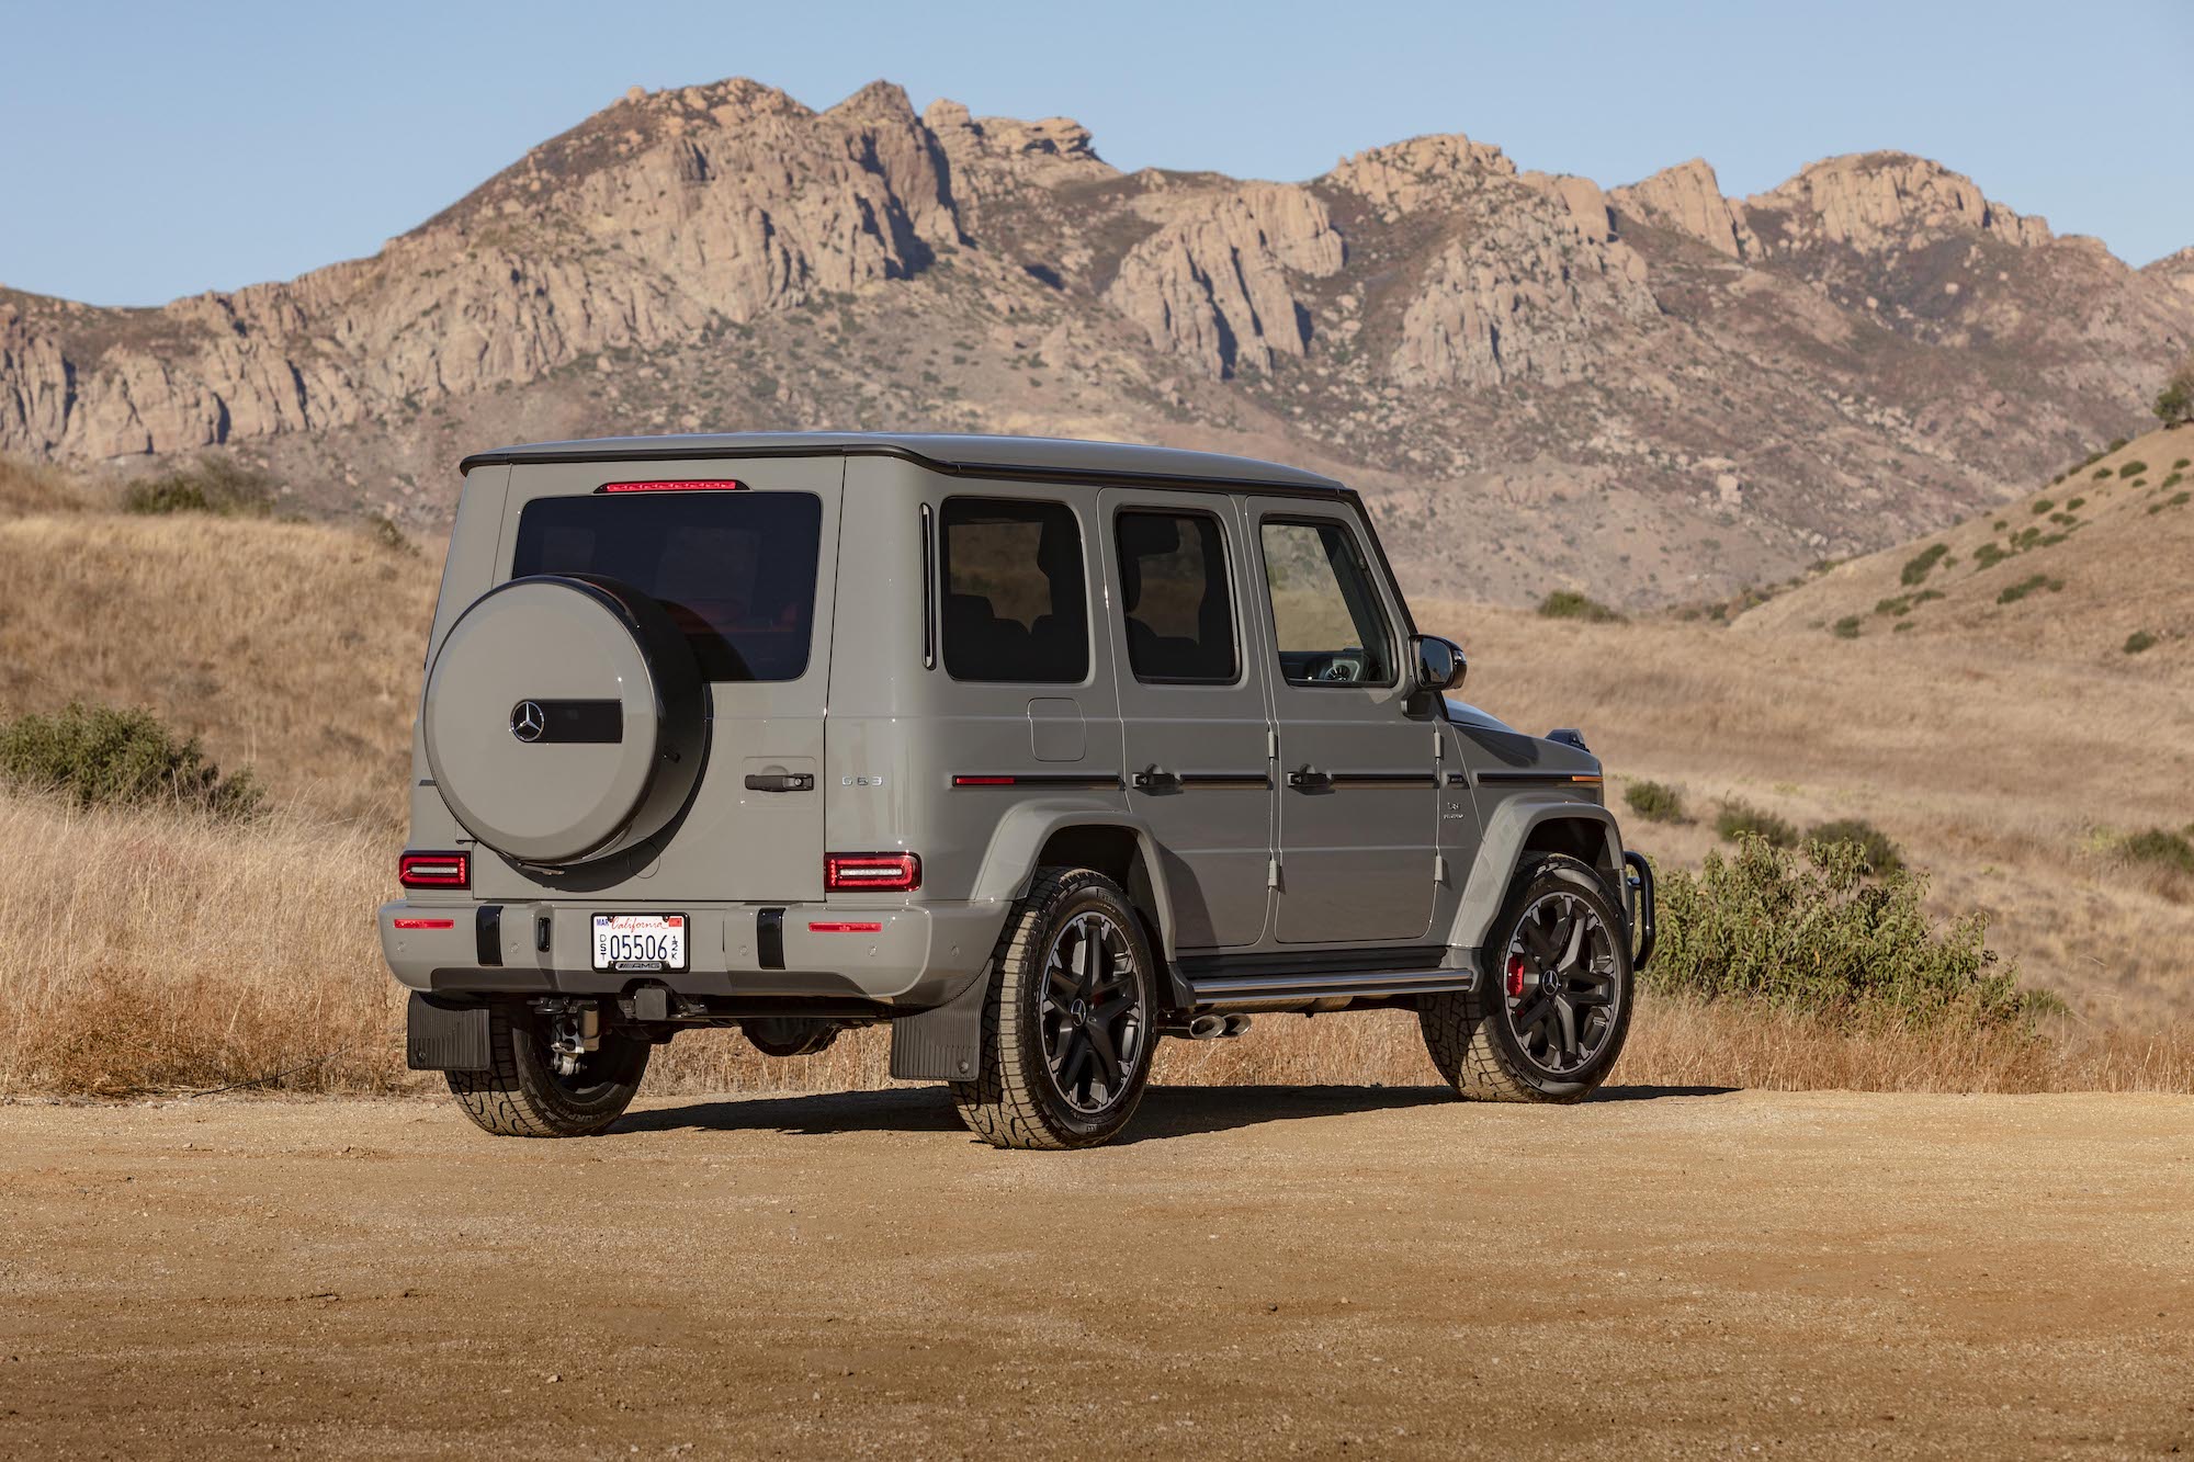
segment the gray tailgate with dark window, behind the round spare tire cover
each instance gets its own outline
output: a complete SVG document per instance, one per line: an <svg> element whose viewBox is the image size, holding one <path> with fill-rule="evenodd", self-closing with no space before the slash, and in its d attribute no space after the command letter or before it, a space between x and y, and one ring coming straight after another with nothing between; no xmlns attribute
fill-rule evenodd
<svg viewBox="0 0 2194 1462"><path fill-rule="evenodd" d="M498 582L592 573L663 604L709 681L709 764L687 810L647 843L570 874L483 856L483 898L823 898L842 485L842 457L513 468Z"/></svg>

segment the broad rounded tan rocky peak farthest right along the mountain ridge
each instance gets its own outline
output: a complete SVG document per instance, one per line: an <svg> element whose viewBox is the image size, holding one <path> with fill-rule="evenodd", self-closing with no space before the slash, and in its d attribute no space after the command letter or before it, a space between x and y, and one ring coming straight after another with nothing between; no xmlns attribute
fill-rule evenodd
<svg viewBox="0 0 2194 1462"><path fill-rule="evenodd" d="M1990 202L1972 178L1902 151L1825 158L1753 209L1786 211L1799 239L1821 237L1861 252L1902 248L1913 235L1986 233L2016 246L2049 241L2049 222Z"/></svg>

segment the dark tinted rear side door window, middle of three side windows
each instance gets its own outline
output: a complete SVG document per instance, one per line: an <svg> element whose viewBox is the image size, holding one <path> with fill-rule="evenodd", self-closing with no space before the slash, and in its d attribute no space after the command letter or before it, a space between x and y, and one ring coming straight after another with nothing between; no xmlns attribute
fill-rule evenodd
<svg viewBox="0 0 2194 1462"><path fill-rule="evenodd" d="M1136 509L1115 518L1112 536L1134 678L1231 685L1240 665L1218 518Z"/></svg>

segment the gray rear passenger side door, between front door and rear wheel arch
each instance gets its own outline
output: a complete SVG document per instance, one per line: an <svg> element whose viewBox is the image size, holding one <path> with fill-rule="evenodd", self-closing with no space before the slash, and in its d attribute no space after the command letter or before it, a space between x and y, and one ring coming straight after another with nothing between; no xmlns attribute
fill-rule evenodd
<svg viewBox="0 0 2194 1462"><path fill-rule="evenodd" d="M1270 913L1273 764L1255 555L1213 494L1106 490L1128 806L1150 825L1174 944L1257 944Z"/></svg>

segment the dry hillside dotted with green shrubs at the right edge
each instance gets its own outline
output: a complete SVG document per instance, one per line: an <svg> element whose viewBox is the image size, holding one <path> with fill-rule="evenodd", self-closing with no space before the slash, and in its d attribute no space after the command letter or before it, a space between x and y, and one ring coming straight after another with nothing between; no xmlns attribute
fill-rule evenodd
<svg viewBox="0 0 2194 1462"><path fill-rule="evenodd" d="M2194 667L2190 564L2194 428L2159 430L1924 540L1839 564L1746 610L1735 630L2133 659L2128 670L2183 685ZM2128 654L2128 641L2141 648Z"/></svg>

